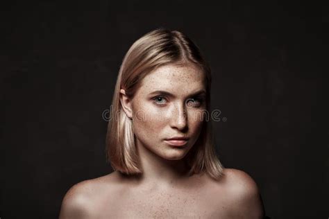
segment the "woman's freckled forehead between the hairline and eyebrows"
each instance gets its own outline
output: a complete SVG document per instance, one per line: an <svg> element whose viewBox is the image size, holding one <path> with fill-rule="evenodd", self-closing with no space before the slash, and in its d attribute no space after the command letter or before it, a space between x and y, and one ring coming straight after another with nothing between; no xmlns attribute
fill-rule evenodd
<svg viewBox="0 0 329 219"><path fill-rule="evenodd" d="M155 69L143 78L140 93L156 90L171 94L189 94L205 89L205 74L194 65L165 65Z"/></svg>

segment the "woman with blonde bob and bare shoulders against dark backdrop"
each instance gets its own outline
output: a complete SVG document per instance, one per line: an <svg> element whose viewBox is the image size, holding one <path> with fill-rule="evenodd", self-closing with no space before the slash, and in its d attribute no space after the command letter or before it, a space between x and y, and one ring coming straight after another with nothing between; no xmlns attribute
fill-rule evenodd
<svg viewBox="0 0 329 219"><path fill-rule="evenodd" d="M183 33L157 29L126 53L108 125L115 170L74 185L60 218L262 218L253 179L223 168L210 129L210 67Z"/></svg>

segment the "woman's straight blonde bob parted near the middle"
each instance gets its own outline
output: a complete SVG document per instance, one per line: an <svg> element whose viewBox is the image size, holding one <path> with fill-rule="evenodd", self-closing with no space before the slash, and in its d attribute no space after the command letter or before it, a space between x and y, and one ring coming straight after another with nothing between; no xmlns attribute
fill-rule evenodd
<svg viewBox="0 0 329 219"><path fill-rule="evenodd" d="M106 136L106 158L114 170L126 175L142 173L135 147L133 121L122 109L119 91L125 89L128 98L133 98L142 79L166 64L193 64L205 74L205 113L209 116L211 71L199 48L177 30L158 28L146 33L126 53L115 85ZM219 179L223 174L223 166L217 158L213 142L212 127L208 119L203 121L199 139L185 155L189 175L203 172L213 179Z"/></svg>

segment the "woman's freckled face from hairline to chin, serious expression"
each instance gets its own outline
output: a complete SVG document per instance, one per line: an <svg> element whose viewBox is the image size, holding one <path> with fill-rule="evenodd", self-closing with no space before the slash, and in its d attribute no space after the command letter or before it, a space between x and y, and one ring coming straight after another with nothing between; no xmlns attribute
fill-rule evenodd
<svg viewBox="0 0 329 219"><path fill-rule="evenodd" d="M164 159L185 157L203 127L205 98L205 74L192 64L149 73L128 105L137 146ZM169 140L175 137L187 140Z"/></svg>

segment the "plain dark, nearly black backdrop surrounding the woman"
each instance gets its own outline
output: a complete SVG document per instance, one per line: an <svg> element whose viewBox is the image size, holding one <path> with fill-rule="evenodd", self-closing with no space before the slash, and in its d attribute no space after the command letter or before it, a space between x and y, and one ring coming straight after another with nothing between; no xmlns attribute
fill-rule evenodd
<svg viewBox="0 0 329 219"><path fill-rule="evenodd" d="M220 2L2 2L1 219L57 218L72 185L110 173L102 112L159 27L210 62L220 159L255 179L267 216L328 218L328 8Z"/></svg>

